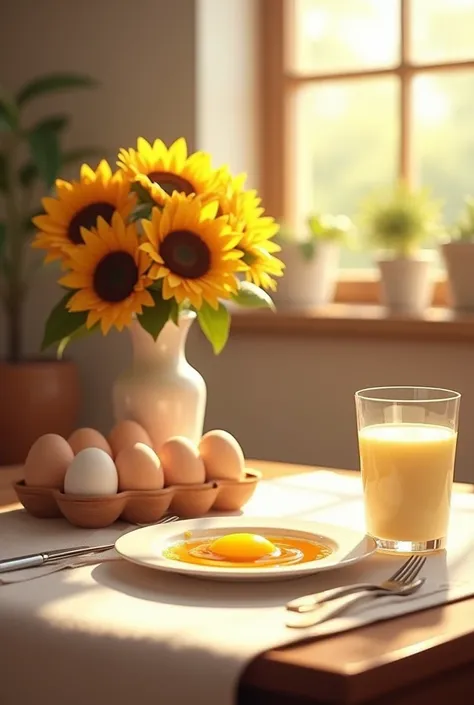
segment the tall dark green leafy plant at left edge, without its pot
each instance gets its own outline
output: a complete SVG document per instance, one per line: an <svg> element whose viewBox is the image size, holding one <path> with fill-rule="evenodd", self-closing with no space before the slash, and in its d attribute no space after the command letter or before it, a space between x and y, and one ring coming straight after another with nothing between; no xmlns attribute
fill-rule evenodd
<svg viewBox="0 0 474 705"><path fill-rule="evenodd" d="M65 167L100 154L96 147L63 148L69 115L49 115L30 124L28 109L52 93L95 85L89 76L54 73L35 77L15 93L0 87L0 200L5 214L0 217L0 298L12 363L23 359L23 314L34 279L34 268L27 263L34 234L31 219L41 212L41 197L49 195Z"/></svg>

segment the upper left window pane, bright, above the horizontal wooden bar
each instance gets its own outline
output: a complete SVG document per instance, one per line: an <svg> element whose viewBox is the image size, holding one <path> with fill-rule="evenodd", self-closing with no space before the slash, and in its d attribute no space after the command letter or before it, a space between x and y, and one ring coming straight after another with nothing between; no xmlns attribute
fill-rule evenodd
<svg viewBox="0 0 474 705"><path fill-rule="evenodd" d="M399 0L294 0L294 8L296 71L332 73L397 63Z"/></svg>

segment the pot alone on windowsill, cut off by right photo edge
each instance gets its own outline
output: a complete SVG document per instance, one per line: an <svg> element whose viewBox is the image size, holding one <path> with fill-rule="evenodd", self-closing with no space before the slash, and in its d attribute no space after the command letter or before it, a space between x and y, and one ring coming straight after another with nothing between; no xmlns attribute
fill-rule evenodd
<svg viewBox="0 0 474 705"><path fill-rule="evenodd" d="M474 242L448 242L441 252L448 272L451 305L474 309Z"/></svg>

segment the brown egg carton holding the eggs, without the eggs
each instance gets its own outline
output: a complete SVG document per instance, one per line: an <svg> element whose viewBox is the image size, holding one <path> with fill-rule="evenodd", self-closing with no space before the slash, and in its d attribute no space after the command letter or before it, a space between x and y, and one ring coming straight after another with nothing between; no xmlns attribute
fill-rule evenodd
<svg viewBox="0 0 474 705"><path fill-rule="evenodd" d="M107 497L65 494L58 489L14 484L24 508L41 519L65 517L74 526L102 529L117 519L151 524L171 511L183 518L204 516L211 509L236 511L253 495L262 475L245 469L241 480L213 480L199 485L172 485L162 490L128 490Z"/></svg>

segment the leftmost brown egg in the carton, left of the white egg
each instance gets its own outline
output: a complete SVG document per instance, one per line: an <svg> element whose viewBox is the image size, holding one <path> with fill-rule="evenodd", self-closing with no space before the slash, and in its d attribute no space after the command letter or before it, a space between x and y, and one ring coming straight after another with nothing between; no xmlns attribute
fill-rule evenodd
<svg viewBox="0 0 474 705"><path fill-rule="evenodd" d="M56 433L40 436L25 461L25 484L62 490L66 471L73 460L74 452L62 436Z"/></svg>

